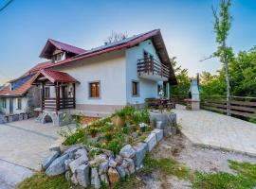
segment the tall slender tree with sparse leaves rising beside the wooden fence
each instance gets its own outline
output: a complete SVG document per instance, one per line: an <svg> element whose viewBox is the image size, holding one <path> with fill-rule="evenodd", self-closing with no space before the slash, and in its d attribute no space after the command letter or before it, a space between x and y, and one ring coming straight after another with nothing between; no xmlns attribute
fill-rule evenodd
<svg viewBox="0 0 256 189"><path fill-rule="evenodd" d="M232 48L227 46L227 39L232 20L232 17L229 14L230 6L231 0L221 0L219 12L212 7L212 13L214 16L214 32L216 33L216 43L218 44L217 51L213 53L213 56L218 57L225 66L228 115L230 115L229 60L233 56Z"/></svg>

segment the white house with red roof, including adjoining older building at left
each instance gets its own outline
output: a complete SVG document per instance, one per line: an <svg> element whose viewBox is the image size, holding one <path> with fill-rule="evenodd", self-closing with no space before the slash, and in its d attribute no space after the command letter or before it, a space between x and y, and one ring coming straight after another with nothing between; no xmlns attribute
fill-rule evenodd
<svg viewBox="0 0 256 189"><path fill-rule="evenodd" d="M46 61L0 90L1 112L14 113L24 101L22 111L37 108L38 121L63 125L67 113L101 117L143 106L162 89L170 97L176 84L159 29L89 50L49 39L40 57Z"/></svg>

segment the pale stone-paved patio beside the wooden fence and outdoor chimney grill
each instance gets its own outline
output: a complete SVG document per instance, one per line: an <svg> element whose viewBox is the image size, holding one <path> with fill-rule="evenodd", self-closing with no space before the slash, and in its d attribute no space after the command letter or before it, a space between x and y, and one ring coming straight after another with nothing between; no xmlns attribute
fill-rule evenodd
<svg viewBox="0 0 256 189"><path fill-rule="evenodd" d="M209 111L187 111L177 105L177 122L192 143L256 156L256 125Z"/></svg>

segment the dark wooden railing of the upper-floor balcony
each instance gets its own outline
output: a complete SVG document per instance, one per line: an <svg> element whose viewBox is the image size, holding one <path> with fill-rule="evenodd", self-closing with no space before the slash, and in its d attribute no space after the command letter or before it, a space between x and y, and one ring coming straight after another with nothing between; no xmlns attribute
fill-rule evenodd
<svg viewBox="0 0 256 189"><path fill-rule="evenodd" d="M161 77L170 77L169 67L155 59L140 59L137 60L137 74L153 74Z"/></svg>

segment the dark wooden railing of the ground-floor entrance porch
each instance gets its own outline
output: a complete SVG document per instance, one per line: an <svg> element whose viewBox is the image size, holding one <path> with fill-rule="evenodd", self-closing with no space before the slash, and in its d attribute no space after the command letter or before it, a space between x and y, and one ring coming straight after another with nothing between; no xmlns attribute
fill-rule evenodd
<svg viewBox="0 0 256 189"><path fill-rule="evenodd" d="M43 109L59 111L63 109L76 108L75 98L60 98L56 101L56 98L46 98L43 100Z"/></svg>

